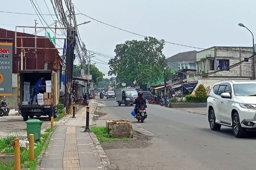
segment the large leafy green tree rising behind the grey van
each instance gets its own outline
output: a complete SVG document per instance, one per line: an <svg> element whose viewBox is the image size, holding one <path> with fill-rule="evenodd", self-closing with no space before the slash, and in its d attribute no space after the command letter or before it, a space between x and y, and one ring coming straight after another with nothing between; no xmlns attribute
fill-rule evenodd
<svg viewBox="0 0 256 170"><path fill-rule="evenodd" d="M109 60L109 75L117 75L122 82L135 79L138 84L156 82L167 66L162 54L164 44L164 40L152 37L117 44L114 50L116 55Z"/></svg>

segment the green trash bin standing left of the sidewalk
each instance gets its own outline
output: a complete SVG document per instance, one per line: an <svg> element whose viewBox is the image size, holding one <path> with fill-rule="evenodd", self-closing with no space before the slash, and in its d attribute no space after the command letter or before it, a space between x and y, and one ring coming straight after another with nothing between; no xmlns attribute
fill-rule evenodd
<svg viewBox="0 0 256 170"><path fill-rule="evenodd" d="M43 121L38 119L29 119L26 121L27 124L27 136L29 134L34 134L34 142L40 140L41 138L41 125Z"/></svg>

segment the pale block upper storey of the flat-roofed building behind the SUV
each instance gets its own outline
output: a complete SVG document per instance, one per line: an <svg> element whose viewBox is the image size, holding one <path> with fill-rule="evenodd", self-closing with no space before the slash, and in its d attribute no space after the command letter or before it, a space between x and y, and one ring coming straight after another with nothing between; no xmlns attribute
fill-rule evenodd
<svg viewBox="0 0 256 170"><path fill-rule="evenodd" d="M252 77L252 47L214 46L196 54L196 72L201 77L250 78ZM235 64L242 62L240 65Z"/></svg>

